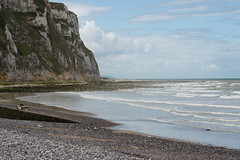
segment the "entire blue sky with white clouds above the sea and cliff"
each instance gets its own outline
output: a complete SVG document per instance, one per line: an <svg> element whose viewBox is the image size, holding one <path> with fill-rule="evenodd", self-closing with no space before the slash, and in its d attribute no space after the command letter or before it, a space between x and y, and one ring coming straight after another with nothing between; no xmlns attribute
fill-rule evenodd
<svg viewBox="0 0 240 160"><path fill-rule="evenodd" d="M240 0L50 0L77 14L102 76L240 78Z"/></svg>

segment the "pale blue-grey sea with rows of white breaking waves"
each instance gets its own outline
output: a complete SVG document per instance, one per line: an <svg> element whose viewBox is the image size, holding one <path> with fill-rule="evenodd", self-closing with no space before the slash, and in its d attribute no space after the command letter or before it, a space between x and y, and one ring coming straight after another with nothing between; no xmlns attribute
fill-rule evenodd
<svg viewBox="0 0 240 160"><path fill-rule="evenodd" d="M152 80L116 91L52 92L28 102L91 112L148 136L240 149L240 80Z"/></svg>

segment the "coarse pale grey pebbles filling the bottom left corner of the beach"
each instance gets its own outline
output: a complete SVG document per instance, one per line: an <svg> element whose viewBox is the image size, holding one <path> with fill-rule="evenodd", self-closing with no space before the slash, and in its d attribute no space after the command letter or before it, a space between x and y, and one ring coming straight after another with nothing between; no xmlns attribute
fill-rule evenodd
<svg viewBox="0 0 240 160"><path fill-rule="evenodd" d="M10 121L11 122L11 121ZM14 123L14 122L13 122ZM25 122L31 123L31 122ZM32 125L32 124L30 124ZM38 124L39 125L39 124ZM42 125L41 125L42 126ZM75 146L61 139L27 134L18 130L0 130L0 159L132 159L136 157L111 152L90 145Z"/></svg>

